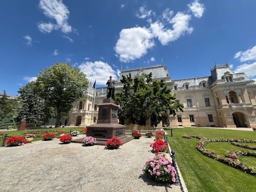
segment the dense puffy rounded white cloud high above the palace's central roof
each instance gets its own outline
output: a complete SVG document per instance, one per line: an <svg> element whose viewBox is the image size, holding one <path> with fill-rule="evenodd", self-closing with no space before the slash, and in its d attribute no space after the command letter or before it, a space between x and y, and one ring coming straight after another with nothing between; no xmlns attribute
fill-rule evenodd
<svg viewBox="0 0 256 192"><path fill-rule="evenodd" d="M145 55L155 45L152 38L151 31L145 27L122 29L115 46L120 61L129 62Z"/></svg>

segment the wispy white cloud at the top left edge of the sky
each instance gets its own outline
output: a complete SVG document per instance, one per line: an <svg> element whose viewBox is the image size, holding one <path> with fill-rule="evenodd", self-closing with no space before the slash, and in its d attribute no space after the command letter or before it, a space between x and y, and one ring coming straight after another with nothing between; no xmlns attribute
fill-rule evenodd
<svg viewBox="0 0 256 192"><path fill-rule="evenodd" d="M38 28L41 32L50 33L52 30L58 29L63 33L72 31L72 27L68 24L69 10L62 0L40 0L39 8L48 18L56 21L56 24L40 22Z"/></svg>

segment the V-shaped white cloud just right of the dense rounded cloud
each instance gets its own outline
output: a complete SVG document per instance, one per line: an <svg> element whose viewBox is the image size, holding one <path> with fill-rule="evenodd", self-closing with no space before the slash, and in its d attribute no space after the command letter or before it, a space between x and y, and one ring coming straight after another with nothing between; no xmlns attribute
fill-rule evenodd
<svg viewBox="0 0 256 192"><path fill-rule="evenodd" d="M170 41L177 40L181 35L190 34L193 31L189 27L190 15L178 12L170 21L173 24L173 29L164 29L161 22L151 24L151 30L155 37L159 39L162 45L167 45Z"/></svg>

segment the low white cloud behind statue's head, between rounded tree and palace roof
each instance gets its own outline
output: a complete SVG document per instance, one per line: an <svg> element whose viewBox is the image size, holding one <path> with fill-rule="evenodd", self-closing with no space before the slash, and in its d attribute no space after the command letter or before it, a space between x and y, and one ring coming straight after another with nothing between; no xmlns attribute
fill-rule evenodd
<svg viewBox="0 0 256 192"><path fill-rule="evenodd" d="M82 63L78 66L78 69L85 73L87 75L88 79L93 79L97 81L97 84L99 85L106 85L106 81L109 79L110 76L113 77L113 79L117 79L116 72L112 69L112 67L102 61L94 61L90 62L87 61L85 63Z"/></svg>

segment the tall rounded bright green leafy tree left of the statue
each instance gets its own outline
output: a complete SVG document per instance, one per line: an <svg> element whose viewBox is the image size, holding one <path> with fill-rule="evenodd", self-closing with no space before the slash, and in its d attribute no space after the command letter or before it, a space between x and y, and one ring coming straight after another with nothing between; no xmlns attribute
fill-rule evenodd
<svg viewBox="0 0 256 192"><path fill-rule="evenodd" d="M52 67L40 70L36 84L45 104L56 109L55 127L58 127L61 113L69 112L73 102L83 97L88 88L88 79L68 63L57 62Z"/></svg>

